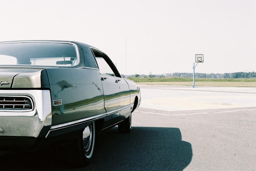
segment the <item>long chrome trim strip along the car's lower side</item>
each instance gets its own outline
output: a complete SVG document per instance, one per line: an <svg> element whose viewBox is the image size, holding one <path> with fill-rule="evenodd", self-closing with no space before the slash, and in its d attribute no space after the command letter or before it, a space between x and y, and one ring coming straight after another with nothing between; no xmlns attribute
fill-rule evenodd
<svg viewBox="0 0 256 171"><path fill-rule="evenodd" d="M131 106L133 106L134 104L130 104L130 105L127 105L125 107L122 107L120 109L117 109L117 110L114 110L114 111L111 111L111 112L107 112L107 113L103 113L103 114L99 114L99 115L95 115L95 116L92 116L92 117L88 117L88 118L84 118L84 119L79 119L79 120L75 120L75 121L72 121L72 122L68 122L68 123L64 123L64 124L59 124L59 125L54 125L54 126L51 126L50 130L48 131L46 137L49 135L49 133L51 131L54 131L54 130L58 130L58 129L62 129L62 128L67 128L67 127L70 127L70 126L74 126L74 125L78 125L78 124L83 124L85 122L88 122L88 121L93 121L93 120L97 120L97 119L100 119L100 118L103 118L103 117L106 117L106 116L109 116L109 115L113 115L115 113L118 113L126 108L129 108Z"/></svg>

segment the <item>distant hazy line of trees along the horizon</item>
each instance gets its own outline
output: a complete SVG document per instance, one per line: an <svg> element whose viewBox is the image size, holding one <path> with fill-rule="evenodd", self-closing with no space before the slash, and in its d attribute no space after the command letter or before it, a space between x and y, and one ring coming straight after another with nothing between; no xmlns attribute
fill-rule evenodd
<svg viewBox="0 0 256 171"><path fill-rule="evenodd" d="M122 75L125 78L125 75ZM168 74L152 74L151 72L148 75L127 75L126 77L142 77L142 78L163 78L163 77L178 77L178 78L193 78L193 73L186 72L176 72ZM256 78L256 72L234 72L234 73L225 73L225 74L206 74L206 73L195 73L195 78L212 78L212 79L224 79L224 78Z"/></svg>

